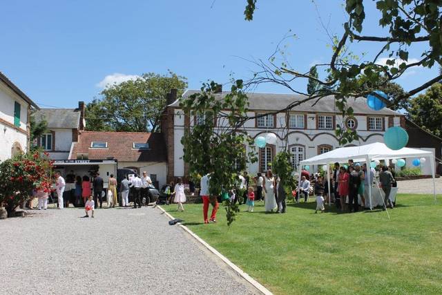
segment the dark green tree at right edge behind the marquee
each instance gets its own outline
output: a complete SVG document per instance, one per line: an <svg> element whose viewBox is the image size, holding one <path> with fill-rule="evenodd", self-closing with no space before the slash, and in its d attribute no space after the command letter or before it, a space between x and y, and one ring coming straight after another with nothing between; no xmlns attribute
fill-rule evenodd
<svg viewBox="0 0 442 295"><path fill-rule="evenodd" d="M436 136L442 135L442 84L435 83L414 97L408 111L410 120Z"/></svg>

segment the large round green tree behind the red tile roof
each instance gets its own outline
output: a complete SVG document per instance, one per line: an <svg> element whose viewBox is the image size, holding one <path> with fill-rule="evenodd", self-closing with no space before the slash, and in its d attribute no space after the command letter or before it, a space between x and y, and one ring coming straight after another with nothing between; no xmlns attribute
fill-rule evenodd
<svg viewBox="0 0 442 295"><path fill-rule="evenodd" d="M135 80L105 88L102 99L86 108L86 128L93 131L155 132L159 129L166 94L177 89L182 95L186 78L169 71L169 75L146 73Z"/></svg>

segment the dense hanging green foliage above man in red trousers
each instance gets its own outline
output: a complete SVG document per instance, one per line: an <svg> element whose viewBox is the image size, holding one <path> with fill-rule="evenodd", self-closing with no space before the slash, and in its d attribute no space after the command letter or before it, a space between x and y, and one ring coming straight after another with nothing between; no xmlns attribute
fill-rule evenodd
<svg viewBox="0 0 442 295"><path fill-rule="evenodd" d="M222 189L231 189L248 162L256 162L253 139L242 131L248 119L248 98L242 91L242 80L236 80L231 92L220 99L216 95L220 85L203 84L195 93L180 102L184 115L196 117L195 124L184 131L184 162L189 163L191 175L211 173L211 196L219 196ZM246 145L251 146L247 153ZM227 207L229 224L237 213L235 204Z"/></svg>

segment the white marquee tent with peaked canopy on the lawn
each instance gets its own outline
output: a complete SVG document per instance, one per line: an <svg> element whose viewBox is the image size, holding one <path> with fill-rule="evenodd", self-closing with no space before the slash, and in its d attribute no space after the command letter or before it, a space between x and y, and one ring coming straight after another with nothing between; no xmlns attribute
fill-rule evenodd
<svg viewBox="0 0 442 295"><path fill-rule="evenodd" d="M429 157L433 178L433 194L436 201L436 183L434 182L434 155L430 151L423 151L420 149L402 148L399 150L392 150L381 142L375 142L374 144L365 144L363 146L349 146L339 149L334 149L327 153L316 155L313 158L309 158L300 162L300 166L305 165L327 165L327 171L329 171L329 165L334 162L347 162L352 159L354 162L366 162L369 166L373 160L392 160L401 158L422 158ZM330 173L327 173L327 181L329 183L330 194ZM300 177L300 173L299 173ZM300 181L300 179L299 179ZM372 186L369 185L368 193L372 198Z"/></svg>

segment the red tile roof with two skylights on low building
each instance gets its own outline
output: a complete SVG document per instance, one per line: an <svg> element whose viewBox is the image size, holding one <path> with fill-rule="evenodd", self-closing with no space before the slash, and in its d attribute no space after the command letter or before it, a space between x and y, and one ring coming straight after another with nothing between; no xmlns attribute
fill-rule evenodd
<svg viewBox="0 0 442 295"><path fill-rule="evenodd" d="M107 142L108 147L91 149L91 142ZM133 149L134 142L147 142L149 149ZM89 160L113 157L118 162L166 162L166 145L161 133L81 131L69 159L77 159L80 153L88 154Z"/></svg>

